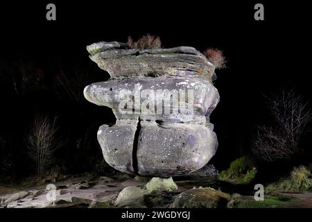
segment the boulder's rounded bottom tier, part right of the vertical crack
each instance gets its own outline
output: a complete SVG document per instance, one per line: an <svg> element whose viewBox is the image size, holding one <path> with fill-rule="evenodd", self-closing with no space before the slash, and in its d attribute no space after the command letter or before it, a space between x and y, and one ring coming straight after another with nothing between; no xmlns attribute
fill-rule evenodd
<svg viewBox="0 0 312 222"><path fill-rule="evenodd" d="M216 134L200 124L141 121L138 173L179 176L205 166L216 153Z"/></svg>

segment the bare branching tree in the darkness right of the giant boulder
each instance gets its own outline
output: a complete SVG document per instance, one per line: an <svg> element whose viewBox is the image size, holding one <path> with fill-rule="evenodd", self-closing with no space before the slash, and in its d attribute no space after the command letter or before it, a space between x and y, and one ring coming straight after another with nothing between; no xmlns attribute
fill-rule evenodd
<svg viewBox="0 0 312 222"><path fill-rule="evenodd" d="M277 96L266 98L276 126L259 127L252 151L267 162L289 160L300 153L300 140L311 122L311 110L293 89L282 89Z"/></svg>

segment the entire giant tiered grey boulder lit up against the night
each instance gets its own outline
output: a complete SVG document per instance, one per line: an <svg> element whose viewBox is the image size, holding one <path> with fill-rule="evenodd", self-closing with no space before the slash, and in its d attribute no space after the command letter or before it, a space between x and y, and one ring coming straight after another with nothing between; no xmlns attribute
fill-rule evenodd
<svg viewBox="0 0 312 222"><path fill-rule="evenodd" d="M112 108L114 126L98 130L105 161L119 171L170 177L197 171L218 146L209 115L219 101L214 66L191 47L87 46L111 78L85 87L85 98Z"/></svg>

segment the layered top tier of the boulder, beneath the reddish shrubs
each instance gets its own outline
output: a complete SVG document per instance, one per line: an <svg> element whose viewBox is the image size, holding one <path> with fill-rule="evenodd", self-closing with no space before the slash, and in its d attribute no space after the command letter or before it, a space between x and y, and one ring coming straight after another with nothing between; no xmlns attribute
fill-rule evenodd
<svg viewBox="0 0 312 222"><path fill-rule="evenodd" d="M126 49L119 42L87 46L92 61L112 78L123 76L189 76L211 78L214 65L192 47L172 49Z"/></svg>

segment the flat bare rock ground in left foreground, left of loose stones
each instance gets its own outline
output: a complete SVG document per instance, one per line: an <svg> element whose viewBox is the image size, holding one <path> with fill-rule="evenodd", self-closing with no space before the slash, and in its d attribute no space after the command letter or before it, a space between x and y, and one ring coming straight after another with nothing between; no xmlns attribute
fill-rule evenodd
<svg viewBox="0 0 312 222"><path fill-rule="evenodd" d="M85 189L76 189L83 181L95 181L95 185ZM11 193L12 191L8 191L8 194L2 193L0 195L0 208L111 207L114 205L119 192L125 187L143 186L145 183L134 178L121 178L120 176L116 178L94 178L94 176L80 178L80 176L74 176L56 184L55 202L46 198L49 190L42 189L42 185L38 185L38 187L31 187L31 190L16 191L14 194ZM58 189L58 187L63 187L63 184L67 184L68 188ZM6 200L9 201L5 203Z"/></svg>

